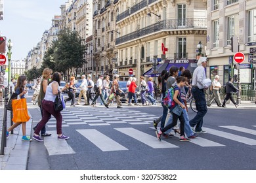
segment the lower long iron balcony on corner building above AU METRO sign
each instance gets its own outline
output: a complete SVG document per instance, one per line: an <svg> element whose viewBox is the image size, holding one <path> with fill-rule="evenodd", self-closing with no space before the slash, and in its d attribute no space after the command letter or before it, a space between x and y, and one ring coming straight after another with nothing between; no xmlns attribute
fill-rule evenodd
<svg viewBox="0 0 256 183"><path fill-rule="evenodd" d="M133 39L139 39L140 37L144 37L158 31L169 31L175 29L207 29L207 22L205 18L162 20L156 24L139 29L138 31L118 37L116 39L116 45L132 41Z"/></svg>

